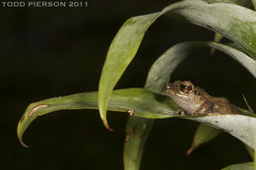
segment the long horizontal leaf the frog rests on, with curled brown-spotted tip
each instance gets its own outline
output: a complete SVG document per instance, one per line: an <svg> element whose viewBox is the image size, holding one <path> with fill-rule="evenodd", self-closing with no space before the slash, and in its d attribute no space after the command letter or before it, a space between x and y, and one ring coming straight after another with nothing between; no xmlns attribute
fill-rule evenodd
<svg viewBox="0 0 256 170"><path fill-rule="evenodd" d="M32 103L18 124L17 134L19 140L23 143L23 134L36 117L57 110L68 109L97 109L97 92L78 93ZM108 110L121 112L133 110L134 116L154 119L173 117L176 109L177 105L171 98L143 88L115 90L109 99L108 105ZM246 110L241 111L245 115L217 114L179 117L221 129L254 148L256 118L252 117L253 114Z"/></svg>

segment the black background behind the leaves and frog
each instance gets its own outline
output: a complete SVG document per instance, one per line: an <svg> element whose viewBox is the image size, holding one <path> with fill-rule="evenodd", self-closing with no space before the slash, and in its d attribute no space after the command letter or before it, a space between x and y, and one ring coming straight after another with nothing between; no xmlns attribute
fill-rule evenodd
<svg viewBox="0 0 256 170"><path fill-rule="evenodd" d="M101 67L118 28L130 17L158 12L170 0L94 0L87 8L0 7L0 169L123 169L127 115L108 113L108 132L96 110L58 111L40 117L24 136L16 137L26 107L38 100L97 89ZM212 40L205 28L161 17L146 33L136 58L116 88L142 87L150 66L164 50L185 40ZM171 82L190 80L214 96L225 96L256 110L255 79L223 53L210 49L188 57ZM222 134L213 142L185 151L197 123L157 120L142 159L142 170L217 170L250 161L243 143Z"/></svg>

